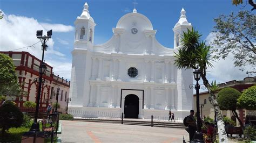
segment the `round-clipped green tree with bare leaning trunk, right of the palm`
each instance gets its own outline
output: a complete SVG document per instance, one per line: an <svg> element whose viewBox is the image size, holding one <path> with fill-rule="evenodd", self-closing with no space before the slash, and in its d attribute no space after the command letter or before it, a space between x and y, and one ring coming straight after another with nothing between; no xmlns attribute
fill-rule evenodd
<svg viewBox="0 0 256 143"><path fill-rule="evenodd" d="M240 126L243 127L244 124L242 124L237 111L235 111L238 109L237 99L240 95L241 93L237 89L230 87L224 88L219 91L217 101L219 103L220 110L231 110L235 118L238 119Z"/></svg>

